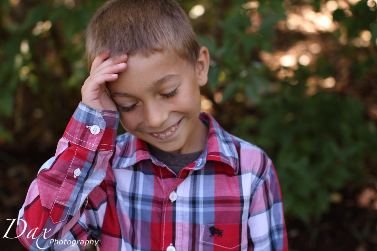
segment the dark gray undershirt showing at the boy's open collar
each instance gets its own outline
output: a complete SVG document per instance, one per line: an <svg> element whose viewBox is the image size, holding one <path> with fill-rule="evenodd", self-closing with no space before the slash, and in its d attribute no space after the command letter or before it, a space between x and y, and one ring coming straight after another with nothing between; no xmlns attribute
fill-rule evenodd
<svg viewBox="0 0 377 251"><path fill-rule="evenodd" d="M172 154L164 152L148 144L150 154L155 156L159 161L166 164L176 175L189 164L193 163L202 154L202 151L192 152L190 154Z"/></svg>

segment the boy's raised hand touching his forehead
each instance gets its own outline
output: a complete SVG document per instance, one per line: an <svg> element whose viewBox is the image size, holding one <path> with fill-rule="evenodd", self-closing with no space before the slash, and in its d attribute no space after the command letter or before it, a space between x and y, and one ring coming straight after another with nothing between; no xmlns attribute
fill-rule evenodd
<svg viewBox="0 0 377 251"><path fill-rule="evenodd" d="M108 58L110 51L100 53L93 61L90 76L81 88L81 97L84 105L98 111L116 111L116 105L106 91L106 82L115 81L118 74L126 70L127 55Z"/></svg>

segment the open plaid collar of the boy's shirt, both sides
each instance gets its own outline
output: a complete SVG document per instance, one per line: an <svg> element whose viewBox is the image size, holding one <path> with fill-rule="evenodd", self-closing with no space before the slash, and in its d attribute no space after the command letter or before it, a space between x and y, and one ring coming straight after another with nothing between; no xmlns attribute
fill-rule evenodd
<svg viewBox="0 0 377 251"><path fill-rule="evenodd" d="M204 167L206 161L213 160L227 164L237 173L239 158L231 135L224 131L210 114L201 111L199 119L208 126L208 138L202 154L190 167L193 170L199 170ZM114 160L113 168L130 167L146 159L150 159L153 164L166 167L165 164L149 153L144 140L136 138L129 133L118 136L116 140L117 150L120 152L119 156Z"/></svg>

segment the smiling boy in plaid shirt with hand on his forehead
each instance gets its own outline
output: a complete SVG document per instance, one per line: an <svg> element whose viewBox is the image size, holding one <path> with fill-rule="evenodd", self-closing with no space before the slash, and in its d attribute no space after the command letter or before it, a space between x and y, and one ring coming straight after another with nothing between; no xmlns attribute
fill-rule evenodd
<svg viewBox="0 0 377 251"><path fill-rule="evenodd" d="M107 2L86 49L82 102L20 210L23 245L288 249L271 160L200 113L209 54L176 2Z"/></svg>

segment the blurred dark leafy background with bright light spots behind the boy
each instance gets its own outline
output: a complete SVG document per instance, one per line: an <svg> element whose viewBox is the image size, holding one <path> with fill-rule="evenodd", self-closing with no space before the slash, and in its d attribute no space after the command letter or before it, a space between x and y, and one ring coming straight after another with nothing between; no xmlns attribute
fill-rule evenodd
<svg viewBox="0 0 377 251"><path fill-rule="evenodd" d="M1 237L80 102L103 2L0 0ZM178 2L210 50L202 109L273 160L290 250L377 250L376 2Z"/></svg>

